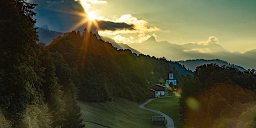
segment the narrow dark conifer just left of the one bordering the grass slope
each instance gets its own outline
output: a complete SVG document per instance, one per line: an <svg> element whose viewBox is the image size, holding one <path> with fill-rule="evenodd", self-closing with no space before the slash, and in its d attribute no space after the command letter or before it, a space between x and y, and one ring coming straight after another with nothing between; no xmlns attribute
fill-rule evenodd
<svg viewBox="0 0 256 128"><path fill-rule="evenodd" d="M42 61L41 66L45 68L41 88L45 94L45 102L48 104L49 111L51 113L52 127L62 125L63 112L64 112L64 101L62 100L63 90L62 86L57 83L57 77L55 76L55 65L53 63L53 57L51 52L48 51L44 46L40 46L40 60Z"/></svg>

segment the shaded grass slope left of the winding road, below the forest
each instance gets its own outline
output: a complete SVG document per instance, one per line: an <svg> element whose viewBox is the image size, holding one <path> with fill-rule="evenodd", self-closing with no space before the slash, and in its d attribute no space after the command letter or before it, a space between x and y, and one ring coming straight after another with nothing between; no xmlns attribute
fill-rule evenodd
<svg viewBox="0 0 256 128"><path fill-rule="evenodd" d="M124 98L114 98L111 102L78 101L85 127L156 127L151 121L156 113L141 109L138 103Z"/></svg>

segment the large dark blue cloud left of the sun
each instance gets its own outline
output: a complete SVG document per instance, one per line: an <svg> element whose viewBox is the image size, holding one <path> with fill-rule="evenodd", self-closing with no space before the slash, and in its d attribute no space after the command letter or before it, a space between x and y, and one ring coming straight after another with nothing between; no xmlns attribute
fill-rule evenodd
<svg viewBox="0 0 256 128"><path fill-rule="evenodd" d="M38 4L34 8L37 26L48 25L51 30L64 32L84 18L72 13L84 12L82 6L74 0L30 0L29 2Z"/></svg>

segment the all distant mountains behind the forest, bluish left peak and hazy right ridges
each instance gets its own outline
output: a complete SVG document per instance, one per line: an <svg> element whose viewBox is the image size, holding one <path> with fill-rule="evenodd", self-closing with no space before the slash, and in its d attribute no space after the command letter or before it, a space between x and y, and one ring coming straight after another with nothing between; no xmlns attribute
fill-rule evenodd
<svg viewBox="0 0 256 128"><path fill-rule="evenodd" d="M39 36L38 42L44 42L46 45L55 37L63 35L62 32L49 30L46 25L38 27L37 32ZM100 39L110 42L117 49L130 49L131 52L136 54L142 53L155 57L165 57L168 60L184 65L184 67L192 71L196 66L209 62L219 65L235 65L240 70L256 68L256 49L244 53L230 52L214 41L209 41L205 44L187 43L179 45L167 41L156 41L153 36L141 43L131 44L117 43L113 39L104 36L101 36Z"/></svg>

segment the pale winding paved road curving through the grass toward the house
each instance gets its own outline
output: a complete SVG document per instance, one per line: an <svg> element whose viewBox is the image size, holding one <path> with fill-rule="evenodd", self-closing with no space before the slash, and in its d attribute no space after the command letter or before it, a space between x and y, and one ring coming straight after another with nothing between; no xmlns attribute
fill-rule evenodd
<svg viewBox="0 0 256 128"><path fill-rule="evenodd" d="M165 96L165 97L170 97L170 96ZM163 97L158 97L158 98L163 98ZM144 107L145 104L147 104L148 102L150 102L150 101L152 101L154 99L156 99L156 98L150 98L146 102L140 104L139 107L142 108L142 109L145 109L145 110L149 110L149 111L161 114L167 120L167 124L165 126L167 128L174 128L173 120L167 114L161 112L160 110L154 110L154 109L149 109L149 108Z"/></svg>

